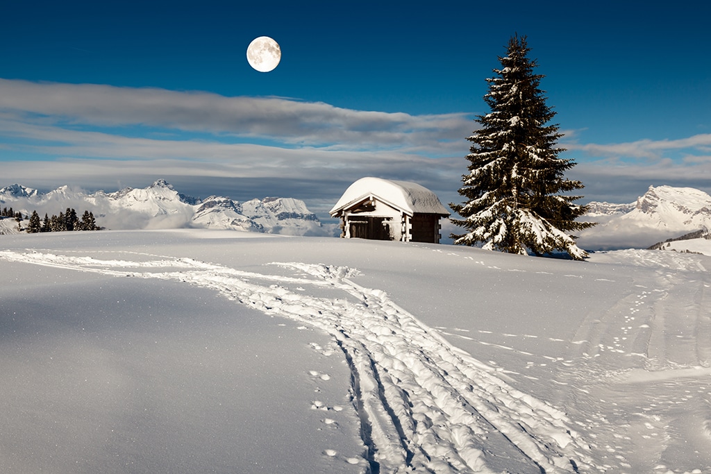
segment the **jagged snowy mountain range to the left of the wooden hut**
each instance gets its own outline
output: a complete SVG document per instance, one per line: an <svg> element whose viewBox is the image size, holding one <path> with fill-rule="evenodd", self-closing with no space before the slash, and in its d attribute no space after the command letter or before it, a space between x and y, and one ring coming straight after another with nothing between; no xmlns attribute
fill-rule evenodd
<svg viewBox="0 0 711 474"><path fill-rule="evenodd" d="M23 214L57 214L65 208L90 210L102 227L115 230L181 227L241 230L283 235L333 235L318 217L294 198L252 199L240 203L210 196L204 200L178 193L159 179L147 188L124 188L115 193L85 193L61 186L48 193L14 184L0 188L0 205ZM15 225L4 226L9 230Z"/></svg>

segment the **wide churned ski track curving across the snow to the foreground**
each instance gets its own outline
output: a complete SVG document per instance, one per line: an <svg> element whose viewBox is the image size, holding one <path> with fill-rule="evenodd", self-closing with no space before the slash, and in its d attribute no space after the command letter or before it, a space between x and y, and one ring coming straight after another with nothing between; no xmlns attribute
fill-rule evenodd
<svg viewBox="0 0 711 474"><path fill-rule="evenodd" d="M140 254L141 261L132 261L0 252L0 259L14 262L207 287L269 315L325 331L351 369L368 472L523 474L597 468L590 446L566 414L511 387L495 369L449 344L384 291L355 284L352 269L272 264L294 274L282 276L151 257L158 256ZM304 286L319 287L319 294L328 296L309 296ZM321 406L314 402L314 408ZM324 453L335 456L331 451Z"/></svg>

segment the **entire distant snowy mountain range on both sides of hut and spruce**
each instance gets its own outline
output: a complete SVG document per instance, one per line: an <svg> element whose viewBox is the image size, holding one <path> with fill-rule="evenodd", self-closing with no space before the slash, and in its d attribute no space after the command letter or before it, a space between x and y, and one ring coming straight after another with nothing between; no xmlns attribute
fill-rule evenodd
<svg viewBox="0 0 711 474"><path fill-rule="evenodd" d="M205 228L282 235L333 236L335 225L319 218L294 198L238 202L223 196L193 198L159 179L147 188L86 193L61 186L48 193L14 184L0 188L0 206L29 214L57 214L66 208L90 210L102 227L114 230ZM589 203L582 220L598 222L580 233L588 250L648 248L697 230L711 230L711 196L695 188L650 186L636 202ZM0 232L16 232L14 220L0 220ZM667 246L668 247L668 246Z"/></svg>

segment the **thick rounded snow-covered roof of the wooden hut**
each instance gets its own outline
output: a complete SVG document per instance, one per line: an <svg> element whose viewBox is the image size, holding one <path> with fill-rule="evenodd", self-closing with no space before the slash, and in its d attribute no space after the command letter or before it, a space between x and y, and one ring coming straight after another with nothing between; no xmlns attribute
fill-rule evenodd
<svg viewBox="0 0 711 474"><path fill-rule="evenodd" d="M391 181L382 178L360 178L348 186L338 203L331 209L331 215L358 204L368 198L378 198L393 208L412 215L415 212L449 215L439 202L437 195L417 183L409 181Z"/></svg>

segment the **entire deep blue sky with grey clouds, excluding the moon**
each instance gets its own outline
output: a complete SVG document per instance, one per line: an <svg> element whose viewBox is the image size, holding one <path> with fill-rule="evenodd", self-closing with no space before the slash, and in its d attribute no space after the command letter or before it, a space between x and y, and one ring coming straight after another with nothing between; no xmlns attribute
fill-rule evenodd
<svg viewBox="0 0 711 474"><path fill-rule="evenodd" d="M440 200L506 44L530 58L584 184L711 193L711 6L678 1L33 1L0 15L0 187L282 196L323 216L363 176ZM272 72L252 39L282 49Z"/></svg>

